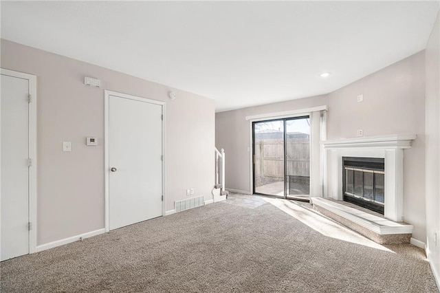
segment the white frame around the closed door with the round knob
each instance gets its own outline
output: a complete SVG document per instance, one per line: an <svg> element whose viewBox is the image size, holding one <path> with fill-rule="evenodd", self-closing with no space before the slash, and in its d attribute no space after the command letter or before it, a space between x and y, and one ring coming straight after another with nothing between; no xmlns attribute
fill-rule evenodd
<svg viewBox="0 0 440 293"><path fill-rule="evenodd" d="M117 91L109 91L104 89L104 222L105 222L105 232L110 231L110 215L109 215L109 180L110 180L110 170L109 170L109 99L110 96L117 96L120 98L126 98L130 100L138 100L140 102L149 102L150 104L161 105L162 106L162 194L164 195L164 200L162 201L162 216L165 215L166 207L166 137L165 137L165 121L166 121L166 103L160 102L158 100L151 100L148 98L142 98L140 96L132 96L129 94L122 94Z"/></svg>

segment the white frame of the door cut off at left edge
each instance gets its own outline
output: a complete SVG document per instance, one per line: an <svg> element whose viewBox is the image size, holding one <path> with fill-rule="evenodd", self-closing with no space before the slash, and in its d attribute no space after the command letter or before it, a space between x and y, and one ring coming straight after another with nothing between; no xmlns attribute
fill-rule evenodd
<svg viewBox="0 0 440 293"><path fill-rule="evenodd" d="M25 74L23 72L14 72L9 69L0 69L0 73L5 76L22 78L29 81L29 158L31 164L29 167L29 253L36 252L36 76ZM1 96L0 96L1 99ZM1 105L1 102L0 102ZM0 138L1 139L1 138ZM1 153L0 153L1 162ZM1 177L0 177L1 180ZM1 185L1 182L0 182ZM1 191L0 191L1 198Z"/></svg>

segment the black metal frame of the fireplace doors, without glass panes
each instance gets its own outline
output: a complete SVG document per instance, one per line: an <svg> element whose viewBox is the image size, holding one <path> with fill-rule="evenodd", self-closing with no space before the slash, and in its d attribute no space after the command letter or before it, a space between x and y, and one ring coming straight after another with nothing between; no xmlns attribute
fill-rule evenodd
<svg viewBox="0 0 440 293"><path fill-rule="evenodd" d="M353 171L353 191L349 192L347 188L347 170ZM355 192L355 171L362 172L362 195L360 192ZM373 176L373 191L371 191L371 196L366 197L365 190L365 174L372 174ZM342 198L346 202L351 202L363 208L368 208L377 213L384 215L384 202L385 202L385 190L382 186L382 197L383 202L377 201L376 199L376 177L381 176L384 180L385 174L385 160L384 158L358 158L358 157L342 157ZM371 189L371 188L370 188Z"/></svg>

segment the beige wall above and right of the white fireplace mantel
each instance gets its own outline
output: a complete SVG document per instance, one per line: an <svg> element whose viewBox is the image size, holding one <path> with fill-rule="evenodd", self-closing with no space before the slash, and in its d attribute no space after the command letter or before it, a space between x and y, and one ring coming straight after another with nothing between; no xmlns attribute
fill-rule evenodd
<svg viewBox="0 0 440 293"><path fill-rule="evenodd" d="M357 96L364 94L364 101ZM405 58L329 94L327 139L416 134L404 150L404 221L424 241L425 221L425 54Z"/></svg>

